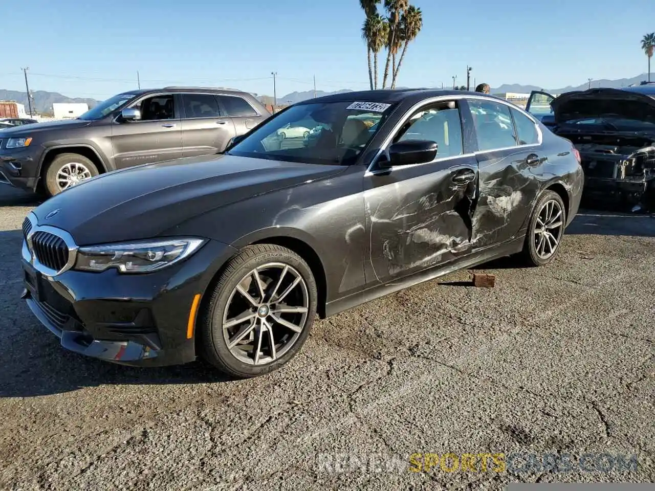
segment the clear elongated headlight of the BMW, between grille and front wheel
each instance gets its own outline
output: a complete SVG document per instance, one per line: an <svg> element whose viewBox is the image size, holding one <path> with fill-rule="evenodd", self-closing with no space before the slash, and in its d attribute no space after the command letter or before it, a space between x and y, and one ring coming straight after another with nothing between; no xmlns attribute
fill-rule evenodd
<svg viewBox="0 0 655 491"><path fill-rule="evenodd" d="M96 272L118 268L122 273L149 273L189 257L205 242L198 238L176 238L80 247L74 268Z"/></svg>

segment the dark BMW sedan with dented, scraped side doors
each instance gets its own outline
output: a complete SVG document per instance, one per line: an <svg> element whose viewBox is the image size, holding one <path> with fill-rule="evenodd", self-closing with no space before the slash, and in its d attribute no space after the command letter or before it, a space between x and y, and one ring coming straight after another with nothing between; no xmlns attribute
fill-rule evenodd
<svg viewBox="0 0 655 491"><path fill-rule="evenodd" d="M326 96L221 155L41 204L23 224L24 298L74 352L255 376L289 361L316 316L496 257L550 263L582 183L570 141L492 96Z"/></svg>

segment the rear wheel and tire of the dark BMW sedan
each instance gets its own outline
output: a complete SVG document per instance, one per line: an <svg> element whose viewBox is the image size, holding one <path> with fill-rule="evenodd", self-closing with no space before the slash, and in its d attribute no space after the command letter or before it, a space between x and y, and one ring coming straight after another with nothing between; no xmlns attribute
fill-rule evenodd
<svg viewBox="0 0 655 491"><path fill-rule="evenodd" d="M548 210L546 206L552 206L552 213L548 215ZM559 207L559 210L557 209ZM557 217L557 211L561 212L561 215ZM555 258L557 251L559 250L559 245L561 245L562 238L564 236L564 227L566 223L566 213L567 210L564 206L561 196L554 191L546 191L539 198L536 206L534 207L533 216L530 218L530 223L528 225L528 230L525 234L525 243L523 244L523 259L528 266L544 266ZM550 216L550 219L548 217ZM553 219L554 217L554 219ZM542 226L544 218L546 218L546 223ZM548 224L550 223L550 227ZM559 227L552 227L560 223ZM538 236L538 230L547 230L552 238L544 236L544 241L542 242L540 234ZM555 244L553 245L553 238L555 239ZM552 250L549 250L552 246Z"/></svg>

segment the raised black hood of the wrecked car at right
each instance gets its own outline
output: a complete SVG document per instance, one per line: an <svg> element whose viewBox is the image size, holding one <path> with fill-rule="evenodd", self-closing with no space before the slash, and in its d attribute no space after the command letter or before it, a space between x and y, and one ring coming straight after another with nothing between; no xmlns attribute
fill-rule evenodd
<svg viewBox="0 0 655 491"><path fill-rule="evenodd" d="M557 123L604 115L655 121L654 98L616 88L592 88L584 92L567 92L555 98L551 106Z"/></svg>

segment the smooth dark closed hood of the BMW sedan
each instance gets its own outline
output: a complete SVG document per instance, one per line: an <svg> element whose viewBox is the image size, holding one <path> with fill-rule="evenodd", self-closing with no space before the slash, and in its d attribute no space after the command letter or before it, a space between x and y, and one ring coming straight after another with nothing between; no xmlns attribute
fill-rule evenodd
<svg viewBox="0 0 655 491"><path fill-rule="evenodd" d="M232 155L183 158L99 175L34 213L39 225L63 228L79 245L151 238L211 209L345 169Z"/></svg>

